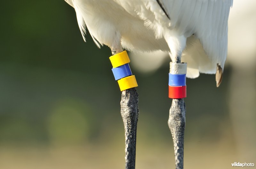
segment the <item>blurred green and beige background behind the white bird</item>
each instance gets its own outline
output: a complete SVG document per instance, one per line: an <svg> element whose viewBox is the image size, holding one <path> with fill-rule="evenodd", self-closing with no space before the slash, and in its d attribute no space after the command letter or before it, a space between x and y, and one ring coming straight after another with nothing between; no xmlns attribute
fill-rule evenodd
<svg viewBox="0 0 256 169"><path fill-rule="evenodd" d="M224 78L187 79L185 168L256 163L256 3L235 1ZM64 0L0 5L0 168L124 168L121 93L107 46L84 43ZM136 168L174 168L168 56L131 54L140 94ZM159 59L157 58L159 55ZM143 64L144 65L144 64ZM144 66L147 67L147 66Z"/></svg>

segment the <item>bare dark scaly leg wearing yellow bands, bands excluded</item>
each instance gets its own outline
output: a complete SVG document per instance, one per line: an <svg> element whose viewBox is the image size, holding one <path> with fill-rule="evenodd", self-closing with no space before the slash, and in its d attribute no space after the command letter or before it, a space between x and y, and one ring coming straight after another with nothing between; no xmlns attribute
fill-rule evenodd
<svg viewBox="0 0 256 169"><path fill-rule="evenodd" d="M121 44L111 47L112 55L123 52ZM137 122L139 118L139 94L136 88L122 91L121 116L124 122L125 169L135 169Z"/></svg>

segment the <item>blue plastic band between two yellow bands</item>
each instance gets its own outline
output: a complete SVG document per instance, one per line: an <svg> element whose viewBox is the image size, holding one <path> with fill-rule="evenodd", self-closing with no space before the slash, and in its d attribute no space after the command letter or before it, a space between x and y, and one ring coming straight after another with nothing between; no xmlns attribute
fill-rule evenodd
<svg viewBox="0 0 256 169"><path fill-rule="evenodd" d="M118 66L112 69L112 72L114 74L114 77L117 80L122 79L124 77L132 75L131 68L129 66L129 63L126 63L122 66Z"/></svg>

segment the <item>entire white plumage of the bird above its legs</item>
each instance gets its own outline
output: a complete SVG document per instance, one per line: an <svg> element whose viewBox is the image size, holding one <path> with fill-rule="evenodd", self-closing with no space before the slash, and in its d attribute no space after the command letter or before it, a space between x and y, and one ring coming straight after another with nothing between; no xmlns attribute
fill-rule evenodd
<svg viewBox="0 0 256 169"><path fill-rule="evenodd" d="M83 37L85 23L98 46L120 42L134 52L171 52L172 59L188 62L191 78L216 73L216 65L223 71L233 0L66 1Z"/></svg>

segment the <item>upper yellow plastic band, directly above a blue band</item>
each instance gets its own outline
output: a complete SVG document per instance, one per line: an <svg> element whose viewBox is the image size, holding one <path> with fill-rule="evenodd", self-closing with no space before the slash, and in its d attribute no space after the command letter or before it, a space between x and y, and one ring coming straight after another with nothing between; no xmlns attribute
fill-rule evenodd
<svg viewBox="0 0 256 169"><path fill-rule="evenodd" d="M124 65L126 63L130 63L129 56L126 51L110 56L109 59L113 68Z"/></svg>

